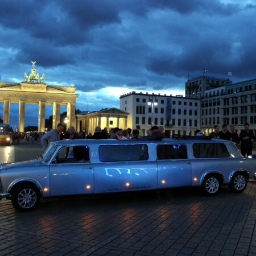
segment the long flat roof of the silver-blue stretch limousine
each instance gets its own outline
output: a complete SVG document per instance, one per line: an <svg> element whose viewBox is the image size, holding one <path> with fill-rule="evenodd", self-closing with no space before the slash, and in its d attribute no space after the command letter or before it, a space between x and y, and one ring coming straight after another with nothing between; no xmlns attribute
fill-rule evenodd
<svg viewBox="0 0 256 256"><path fill-rule="evenodd" d="M62 141L53 142L57 146L71 146L71 145L87 145L87 144L159 144L159 143L232 143L232 141L225 141L224 139L64 139Z"/></svg>

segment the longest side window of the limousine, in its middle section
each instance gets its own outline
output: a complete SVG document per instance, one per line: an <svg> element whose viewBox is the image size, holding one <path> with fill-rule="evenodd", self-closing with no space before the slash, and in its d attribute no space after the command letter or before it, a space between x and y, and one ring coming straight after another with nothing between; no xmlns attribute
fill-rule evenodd
<svg viewBox="0 0 256 256"><path fill-rule="evenodd" d="M140 161L148 159L146 144L102 145L99 147L101 162Z"/></svg>

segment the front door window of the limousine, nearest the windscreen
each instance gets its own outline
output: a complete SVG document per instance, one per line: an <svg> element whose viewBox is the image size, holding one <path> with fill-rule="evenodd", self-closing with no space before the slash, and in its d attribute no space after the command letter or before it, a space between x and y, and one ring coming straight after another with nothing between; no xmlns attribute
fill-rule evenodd
<svg viewBox="0 0 256 256"><path fill-rule="evenodd" d="M69 146L60 149L53 163L86 163L89 160L88 146Z"/></svg>

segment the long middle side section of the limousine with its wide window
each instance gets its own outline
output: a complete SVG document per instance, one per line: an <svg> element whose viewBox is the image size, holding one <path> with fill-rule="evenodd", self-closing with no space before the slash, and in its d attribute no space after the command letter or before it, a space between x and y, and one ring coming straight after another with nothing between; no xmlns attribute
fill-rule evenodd
<svg viewBox="0 0 256 256"><path fill-rule="evenodd" d="M99 156L101 163L93 164L96 193L157 188L156 162L148 160L146 144L102 145Z"/></svg>

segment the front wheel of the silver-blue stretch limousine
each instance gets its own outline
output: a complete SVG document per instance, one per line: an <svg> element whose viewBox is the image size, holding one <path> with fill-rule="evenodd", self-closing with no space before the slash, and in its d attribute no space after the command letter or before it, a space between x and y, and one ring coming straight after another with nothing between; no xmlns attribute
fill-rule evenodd
<svg viewBox="0 0 256 256"><path fill-rule="evenodd" d="M20 211L32 210L39 202L39 192L36 187L30 184L18 185L11 193L11 203Z"/></svg>

